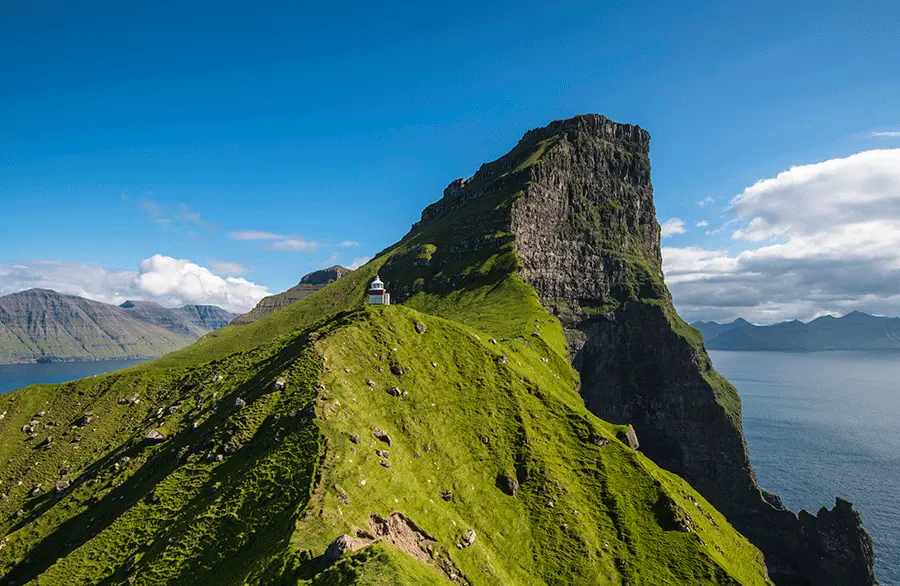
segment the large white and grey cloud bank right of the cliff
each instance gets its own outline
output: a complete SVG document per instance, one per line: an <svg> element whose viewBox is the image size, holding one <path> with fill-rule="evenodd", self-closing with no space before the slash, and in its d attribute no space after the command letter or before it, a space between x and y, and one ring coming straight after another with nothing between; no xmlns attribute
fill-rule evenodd
<svg viewBox="0 0 900 586"><path fill-rule="evenodd" d="M663 249L686 319L900 315L900 149L792 167L745 189L731 212L743 250Z"/></svg>

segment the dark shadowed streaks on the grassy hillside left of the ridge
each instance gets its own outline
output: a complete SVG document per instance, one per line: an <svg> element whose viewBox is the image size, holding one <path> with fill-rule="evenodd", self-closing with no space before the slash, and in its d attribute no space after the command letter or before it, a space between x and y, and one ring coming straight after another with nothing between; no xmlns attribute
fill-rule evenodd
<svg viewBox="0 0 900 586"><path fill-rule="evenodd" d="M91 464L77 478L63 498L58 499L52 493L45 493L42 497L29 502L27 515L17 523L15 529L21 529L36 520L54 505L64 505L66 498L72 498L69 493L76 491L83 483L96 478L101 471L110 469L123 456L134 459L145 450L151 451L147 461L130 478L112 488L97 502L90 504L87 510L61 523L52 533L32 547L28 551L30 561L20 564L9 574L0 578L0 584L22 584L36 579L54 563L110 527L139 501L147 499L163 479L182 466L184 460L179 457L179 454L184 448L187 448L189 454L202 454L211 444L222 439L222 437L216 437L223 436L223 431L217 428L225 423L229 415L233 413L231 405L238 396L242 397L247 404L251 404L270 392L274 379L294 365L296 359L308 345L306 334L345 318L346 314L342 313L324 323L315 324L313 328L299 332L275 355L254 365L256 374L221 397L222 405L218 408L215 404L209 407L214 409L214 412L198 429L192 430L185 425L158 446L152 446L144 441L142 437L144 431L136 432L123 442L118 450ZM228 357L212 364L224 365L231 358ZM282 403L278 408L284 407L285 400L303 401L302 404L294 405L292 409L302 409L313 403L317 393L315 389L317 369L316 372L308 373L311 375L307 379L306 387L308 388L298 389L282 398ZM191 395L191 392L185 393L182 399L188 399ZM148 561L160 562L164 555L169 553L166 550L169 538L183 535L195 522L195 519L204 514L213 503L227 503L229 499L237 496L244 496L246 500L246 495L240 494L244 477L262 464L270 453L278 450L278 446L283 444L288 437L296 439L299 445L318 451L319 432L316 426L310 425L311 421L312 415L308 412L297 417L281 416L280 418L269 414L264 422L256 428L253 437L241 449L216 466L210 485L199 490L186 505L178 507L178 514L172 519L173 522L170 525L156 530L152 535L141 535L148 544L138 548L137 553L141 559L137 562L134 571L140 571ZM188 576L179 576L177 581L187 579L190 583L218 584L222 583L221 578L227 576L230 581L243 583L243 577L254 569L257 571L261 569L260 567L254 568L254 566L271 563L278 552L285 551L289 547L295 519L309 500L315 468L318 464L318 454L312 458L307 456L305 463L305 469L292 471L293 476L289 478L291 486L277 484L274 486L274 490L269 492L270 495L276 495L274 498L254 495L254 498L257 496L260 498L251 503L257 506L255 510L248 513L252 517L252 526L248 525L247 519L227 515L217 519L213 534L204 535L203 541L213 540L220 545L215 548L202 549L202 557L191 561L189 579ZM297 475L302 478L297 478ZM104 477L104 481L107 481L107 477ZM261 482L276 482L276 479L266 477ZM96 497L91 497L91 499L94 500ZM165 503L156 506L165 506ZM241 512L244 512L243 509ZM140 529L135 529L134 532L141 534ZM248 532L249 537L247 537ZM241 538L237 536L241 536ZM135 538L135 536L131 537ZM101 584L120 584L123 579L127 578L130 571L127 567L128 561L122 559L119 560L119 563L120 567L100 582ZM212 576L218 576L219 580L211 580Z"/></svg>

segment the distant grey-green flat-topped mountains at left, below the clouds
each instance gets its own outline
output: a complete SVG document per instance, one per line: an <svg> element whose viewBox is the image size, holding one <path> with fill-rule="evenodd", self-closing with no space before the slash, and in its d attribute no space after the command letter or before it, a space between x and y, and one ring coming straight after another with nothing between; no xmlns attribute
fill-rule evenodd
<svg viewBox="0 0 900 586"><path fill-rule="evenodd" d="M156 357L234 317L212 305L169 309L126 301L116 306L29 289L0 297L0 363Z"/></svg>

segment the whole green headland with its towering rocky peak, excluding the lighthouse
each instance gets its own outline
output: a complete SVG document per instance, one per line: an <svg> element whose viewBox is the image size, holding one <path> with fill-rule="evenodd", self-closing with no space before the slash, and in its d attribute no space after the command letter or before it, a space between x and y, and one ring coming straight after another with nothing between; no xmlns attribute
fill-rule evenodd
<svg viewBox="0 0 900 586"><path fill-rule="evenodd" d="M663 282L648 150L597 115L530 131L299 301L0 397L0 571L874 583L848 503L798 518L756 486L737 395ZM367 305L376 274L394 305Z"/></svg>

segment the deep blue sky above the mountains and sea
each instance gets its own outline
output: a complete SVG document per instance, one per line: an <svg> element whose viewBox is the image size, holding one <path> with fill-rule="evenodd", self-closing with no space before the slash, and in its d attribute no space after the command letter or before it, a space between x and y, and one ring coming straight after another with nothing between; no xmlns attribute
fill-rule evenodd
<svg viewBox="0 0 900 586"><path fill-rule="evenodd" d="M805 199L770 185L730 204L792 166L896 154L895 3L190 4L0 0L0 293L189 300L129 285L151 265L185 272L167 257L213 288L233 276L278 292L393 243L529 128L598 112L652 134L659 220L684 229L663 241L667 274L689 318L900 312L892 272L856 292L809 275L748 284L742 253L812 236L772 198L812 209L840 194L810 180ZM893 156L876 199L900 197ZM853 161L850 192L873 183ZM754 218L770 229L735 237ZM261 290L234 286L210 300L239 309ZM695 299L709 287L721 303Z"/></svg>

